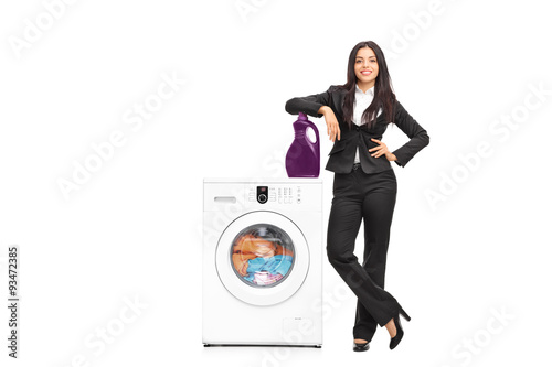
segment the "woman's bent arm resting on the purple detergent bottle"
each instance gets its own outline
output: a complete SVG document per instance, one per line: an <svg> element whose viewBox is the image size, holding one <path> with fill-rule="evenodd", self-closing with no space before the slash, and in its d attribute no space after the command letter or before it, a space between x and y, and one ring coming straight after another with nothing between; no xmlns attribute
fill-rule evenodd
<svg viewBox="0 0 552 367"><path fill-rule="evenodd" d="M333 86L330 86L328 90L317 95L291 98L286 102L286 111L290 115L305 112L312 117L323 116L328 128L328 136L331 141L336 141L336 138L338 140L341 139L341 131L333 110L328 106L330 100L330 90L332 88Z"/></svg>

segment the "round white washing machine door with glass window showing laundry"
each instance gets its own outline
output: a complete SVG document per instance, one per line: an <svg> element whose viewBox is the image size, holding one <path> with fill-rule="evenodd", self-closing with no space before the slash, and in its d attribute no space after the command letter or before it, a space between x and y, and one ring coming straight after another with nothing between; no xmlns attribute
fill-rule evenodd
<svg viewBox="0 0 552 367"><path fill-rule="evenodd" d="M293 296L307 277L309 261L301 230L275 212L240 216L216 246L221 282L235 298L253 305L273 305Z"/></svg>

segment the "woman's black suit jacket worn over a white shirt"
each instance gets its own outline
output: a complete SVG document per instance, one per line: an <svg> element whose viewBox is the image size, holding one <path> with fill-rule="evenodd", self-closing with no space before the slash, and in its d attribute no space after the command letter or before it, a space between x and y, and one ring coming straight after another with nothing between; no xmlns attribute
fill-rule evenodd
<svg viewBox="0 0 552 367"><path fill-rule="evenodd" d="M349 129L348 125L343 121L342 106L344 96L344 90L338 89L337 86L332 85L325 93L289 99L286 102L286 111L291 115L305 112L312 117L322 117L322 114L318 114L320 107L329 106L333 110L339 122L339 129L341 130L341 140L337 140L336 138L333 148L328 154L330 158L328 159L326 170L335 173L351 172L357 147L359 147L360 164L362 171L365 173L392 170L390 161L388 161L385 155L374 158L371 156L371 152L368 151L379 145L370 139L374 138L381 140L383 132L390 123L390 119L386 118L385 112L382 111L382 114L378 116L375 120L376 123L372 129L369 130L367 125L358 127L354 123L352 123L352 128ZM392 152L396 155L396 161L394 162L400 166L405 166L418 151L429 143L429 136L427 136L424 128L408 115L399 101L395 101L393 111L393 122L411 139L403 147Z"/></svg>

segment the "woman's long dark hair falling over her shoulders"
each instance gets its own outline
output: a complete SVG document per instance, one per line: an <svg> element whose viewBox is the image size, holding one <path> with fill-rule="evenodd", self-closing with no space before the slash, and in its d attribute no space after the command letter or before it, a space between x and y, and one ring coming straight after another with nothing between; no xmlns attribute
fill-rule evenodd
<svg viewBox="0 0 552 367"><path fill-rule="evenodd" d="M376 114L380 108L383 109L383 114L388 120L393 119L393 105L395 102L395 94L393 93L393 87L391 84L391 76L389 75L388 64L385 63L385 56L380 46L372 41L359 42L351 51L349 55L349 64L347 65L347 83L340 85L341 89L347 90L347 95L343 101L343 119L347 121L349 129L352 127L353 118L353 104L354 104L354 93L357 89L357 75L354 74L354 62L357 58L357 53L362 47L370 47L375 54L375 60L378 62L378 76L375 77L374 85L374 98L372 104L362 114L361 125L365 125L367 129L371 129L375 125ZM367 123L368 121L368 123Z"/></svg>

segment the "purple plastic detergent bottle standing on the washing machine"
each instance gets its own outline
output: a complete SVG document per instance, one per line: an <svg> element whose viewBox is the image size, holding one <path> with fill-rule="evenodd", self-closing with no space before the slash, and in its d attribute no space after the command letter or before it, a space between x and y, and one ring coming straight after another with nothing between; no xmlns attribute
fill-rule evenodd
<svg viewBox="0 0 552 367"><path fill-rule="evenodd" d="M288 177L318 177L320 174L320 138L315 123L307 119L307 115L299 112L294 122L295 139L286 154L286 171ZM316 141L307 134L312 129Z"/></svg>

